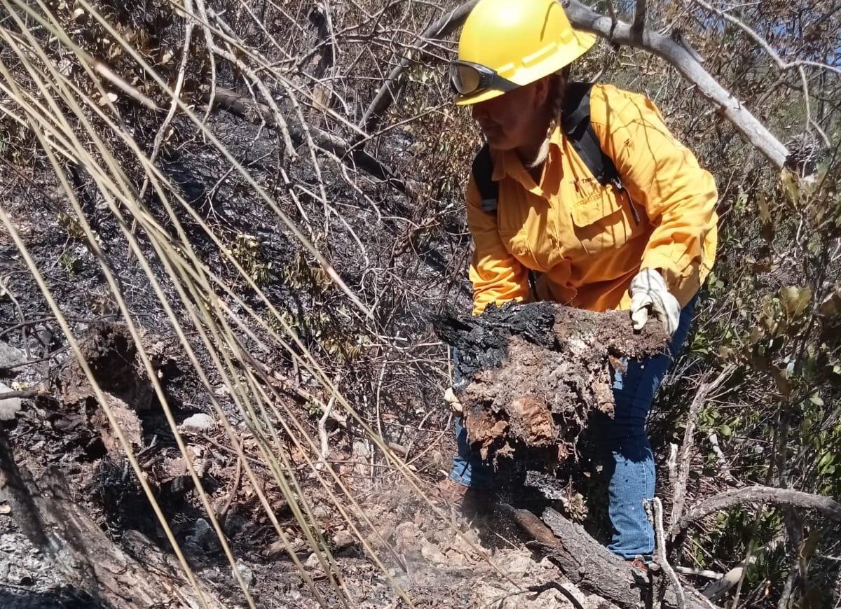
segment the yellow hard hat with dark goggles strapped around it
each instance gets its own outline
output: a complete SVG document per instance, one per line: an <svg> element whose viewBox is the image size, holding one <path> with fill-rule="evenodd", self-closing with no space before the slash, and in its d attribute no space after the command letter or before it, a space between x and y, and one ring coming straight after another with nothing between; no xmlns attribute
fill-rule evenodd
<svg viewBox="0 0 841 609"><path fill-rule="evenodd" d="M456 103L493 99L569 66L595 44L573 29L558 0L480 0L450 66Z"/></svg>

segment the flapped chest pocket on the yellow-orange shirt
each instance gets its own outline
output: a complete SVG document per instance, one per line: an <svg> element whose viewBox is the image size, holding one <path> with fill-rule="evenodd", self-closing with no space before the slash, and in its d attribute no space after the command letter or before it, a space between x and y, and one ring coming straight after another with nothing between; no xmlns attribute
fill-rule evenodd
<svg viewBox="0 0 841 609"><path fill-rule="evenodd" d="M627 192L596 186L570 208L575 236L587 255L620 248L641 230Z"/></svg>

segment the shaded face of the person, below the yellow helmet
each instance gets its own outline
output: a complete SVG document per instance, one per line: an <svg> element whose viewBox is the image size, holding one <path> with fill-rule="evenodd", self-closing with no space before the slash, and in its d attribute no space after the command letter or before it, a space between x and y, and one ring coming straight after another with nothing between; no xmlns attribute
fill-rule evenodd
<svg viewBox="0 0 841 609"><path fill-rule="evenodd" d="M538 110L546 102L547 89L547 79L541 79L473 104L473 119L479 123L491 148L515 150L532 144L534 123Z"/></svg>

